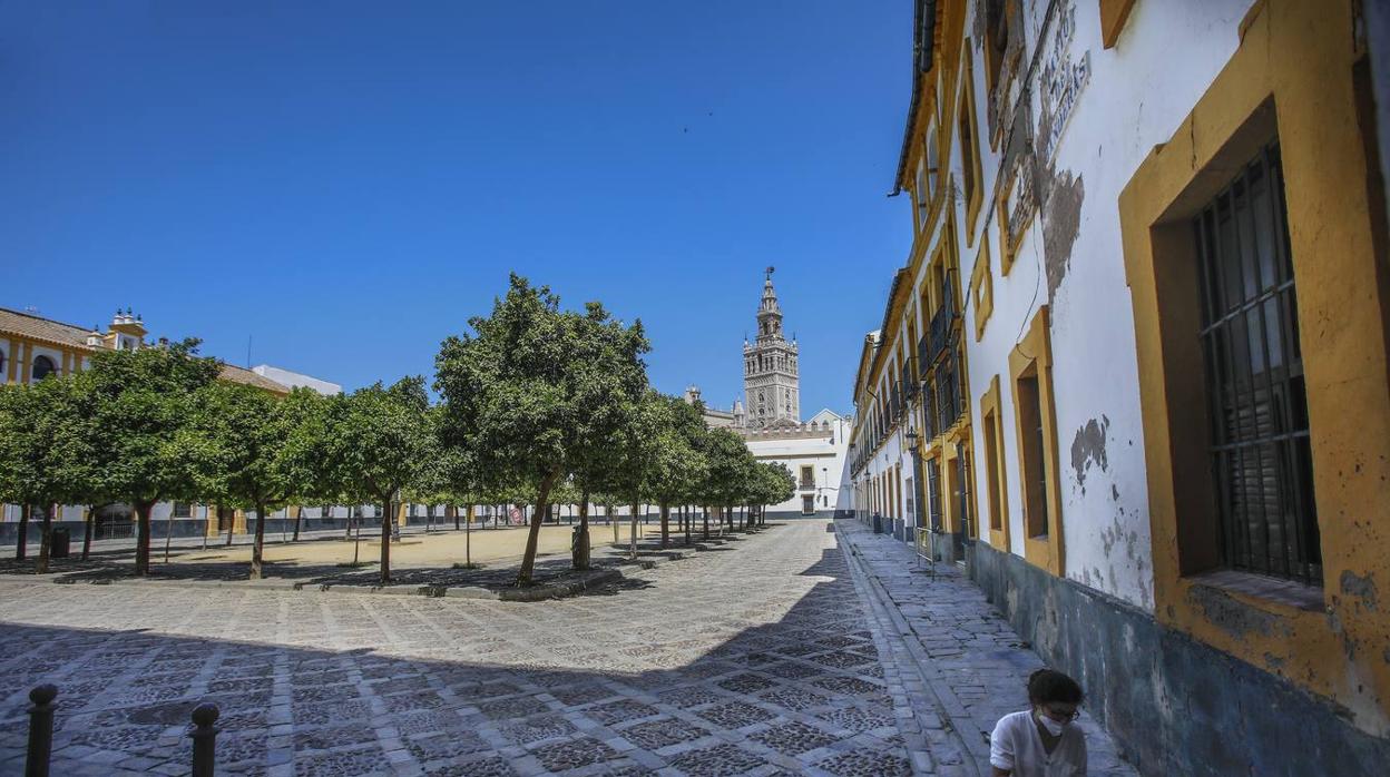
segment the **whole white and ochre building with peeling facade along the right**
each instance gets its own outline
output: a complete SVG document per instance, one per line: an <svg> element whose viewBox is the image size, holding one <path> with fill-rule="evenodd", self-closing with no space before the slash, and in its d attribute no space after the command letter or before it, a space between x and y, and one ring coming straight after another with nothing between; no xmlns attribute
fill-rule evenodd
<svg viewBox="0 0 1390 777"><path fill-rule="evenodd" d="M855 507L960 563L1145 774L1390 758L1365 7L916 3ZM1294 705L1308 737L1265 720Z"/></svg>

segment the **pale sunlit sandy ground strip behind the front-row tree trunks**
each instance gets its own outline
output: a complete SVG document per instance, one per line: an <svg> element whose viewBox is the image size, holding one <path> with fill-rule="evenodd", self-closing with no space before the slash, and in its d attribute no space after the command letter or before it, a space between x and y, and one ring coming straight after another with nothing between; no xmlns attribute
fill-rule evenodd
<svg viewBox="0 0 1390 777"><path fill-rule="evenodd" d="M657 524L638 524L638 537L646 534L660 534ZM570 525L548 525L541 528L539 555L569 553ZM674 525L673 525L674 532ZM623 542L630 539L630 525L619 527L619 537ZM171 563L207 563L207 562L250 562L252 549L249 545L224 548L218 545L220 538L208 538L208 546L203 549L175 550L170 556ZM282 543L279 534L265 535L265 560L292 564L338 564L353 560L352 539L317 539L306 542ZM613 542L613 527L591 525L589 542L595 548ZM446 530L406 534L400 542L391 546L391 564L395 569L406 567L448 567L463 563L471 543L471 559L474 563L495 564L509 559L520 559L525 549L525 527L507 528L474 528L471 532L453 531L452 524ZM361 527L360 559L375 560L381 555L381 525Z"/></svg>

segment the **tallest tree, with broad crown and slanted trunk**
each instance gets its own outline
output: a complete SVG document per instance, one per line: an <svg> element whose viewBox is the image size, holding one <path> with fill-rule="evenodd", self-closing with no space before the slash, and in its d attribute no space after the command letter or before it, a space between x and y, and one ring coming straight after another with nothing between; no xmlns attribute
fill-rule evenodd
<svg viewBox="0 0 1390 777"><path fill-rule="evenodd" d="M646 388L641 324L624 327L598 303L560 311L549 288L512 275L492 316L446 339L435 388L443 398L445 441L475 456L488 484L530 484L531 518L517 584L535 569L550 491L577 466L603 455Z"/></svg>

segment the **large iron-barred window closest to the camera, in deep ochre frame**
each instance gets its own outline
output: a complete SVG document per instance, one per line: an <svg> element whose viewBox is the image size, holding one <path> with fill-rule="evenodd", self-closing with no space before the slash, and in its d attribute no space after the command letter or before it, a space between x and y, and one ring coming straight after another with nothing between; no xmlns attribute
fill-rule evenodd
<svg viewBox="0 0 1390 777"><path fill-rule="evenodd" d="M1222 562L1322 585L1277 140L1194 218Z"/></svg>

